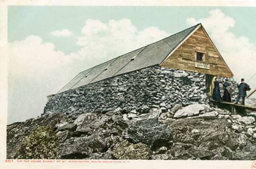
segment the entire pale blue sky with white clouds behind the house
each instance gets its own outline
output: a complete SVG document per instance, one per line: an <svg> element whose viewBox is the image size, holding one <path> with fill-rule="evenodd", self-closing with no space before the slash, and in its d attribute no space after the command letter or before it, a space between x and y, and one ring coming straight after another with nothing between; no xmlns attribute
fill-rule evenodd
<svg viewBox="0 0 256 169"><path fill-rule="evenodd" d="M255 7L9 6L8 123L42 114L46 96L77 73L198 23L234 78L248 80L255 16ZM255 76L248 83L255 88Z"/></svg>

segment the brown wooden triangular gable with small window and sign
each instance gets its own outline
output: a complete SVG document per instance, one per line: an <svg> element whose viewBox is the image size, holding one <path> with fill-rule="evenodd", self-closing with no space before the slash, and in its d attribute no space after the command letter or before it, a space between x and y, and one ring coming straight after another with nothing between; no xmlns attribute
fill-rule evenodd
<svg viewBox="0 0 256 169"><path fill-rule="evenodd" d="M196 58L196 54L203 55L202 60ZM226 62L202 26L199 26L188 36L176 50L174 49L162 62L161 66L222 77L233 77Z"/></svg>

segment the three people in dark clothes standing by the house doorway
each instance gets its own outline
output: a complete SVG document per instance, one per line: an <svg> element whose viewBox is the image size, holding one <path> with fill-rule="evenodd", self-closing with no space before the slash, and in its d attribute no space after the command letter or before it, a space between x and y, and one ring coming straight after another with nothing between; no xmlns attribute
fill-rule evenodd
<svg viewBox="0 0 256 169"><path fill-rule="evenodd" d="M228 79L226 79L225 82L223 83L224 94L222 97L221 97L219 85L220 85L220 82L217 80L217 78L215 78L214 88L212 92L212 99L218 102L221 102L221 101L231 102L232 91L230 88L230 84L228 83ZM239 100L242 97L242 104L245 105L245 97L247 96L246 91L250 90L250 87L249 85L247 85L246 82L244 82L243 78L241 79L241 83L239 84L238 89L239 89L239 93L238 93L237 100L235 100L235 104L238 104Z"/></svg>

